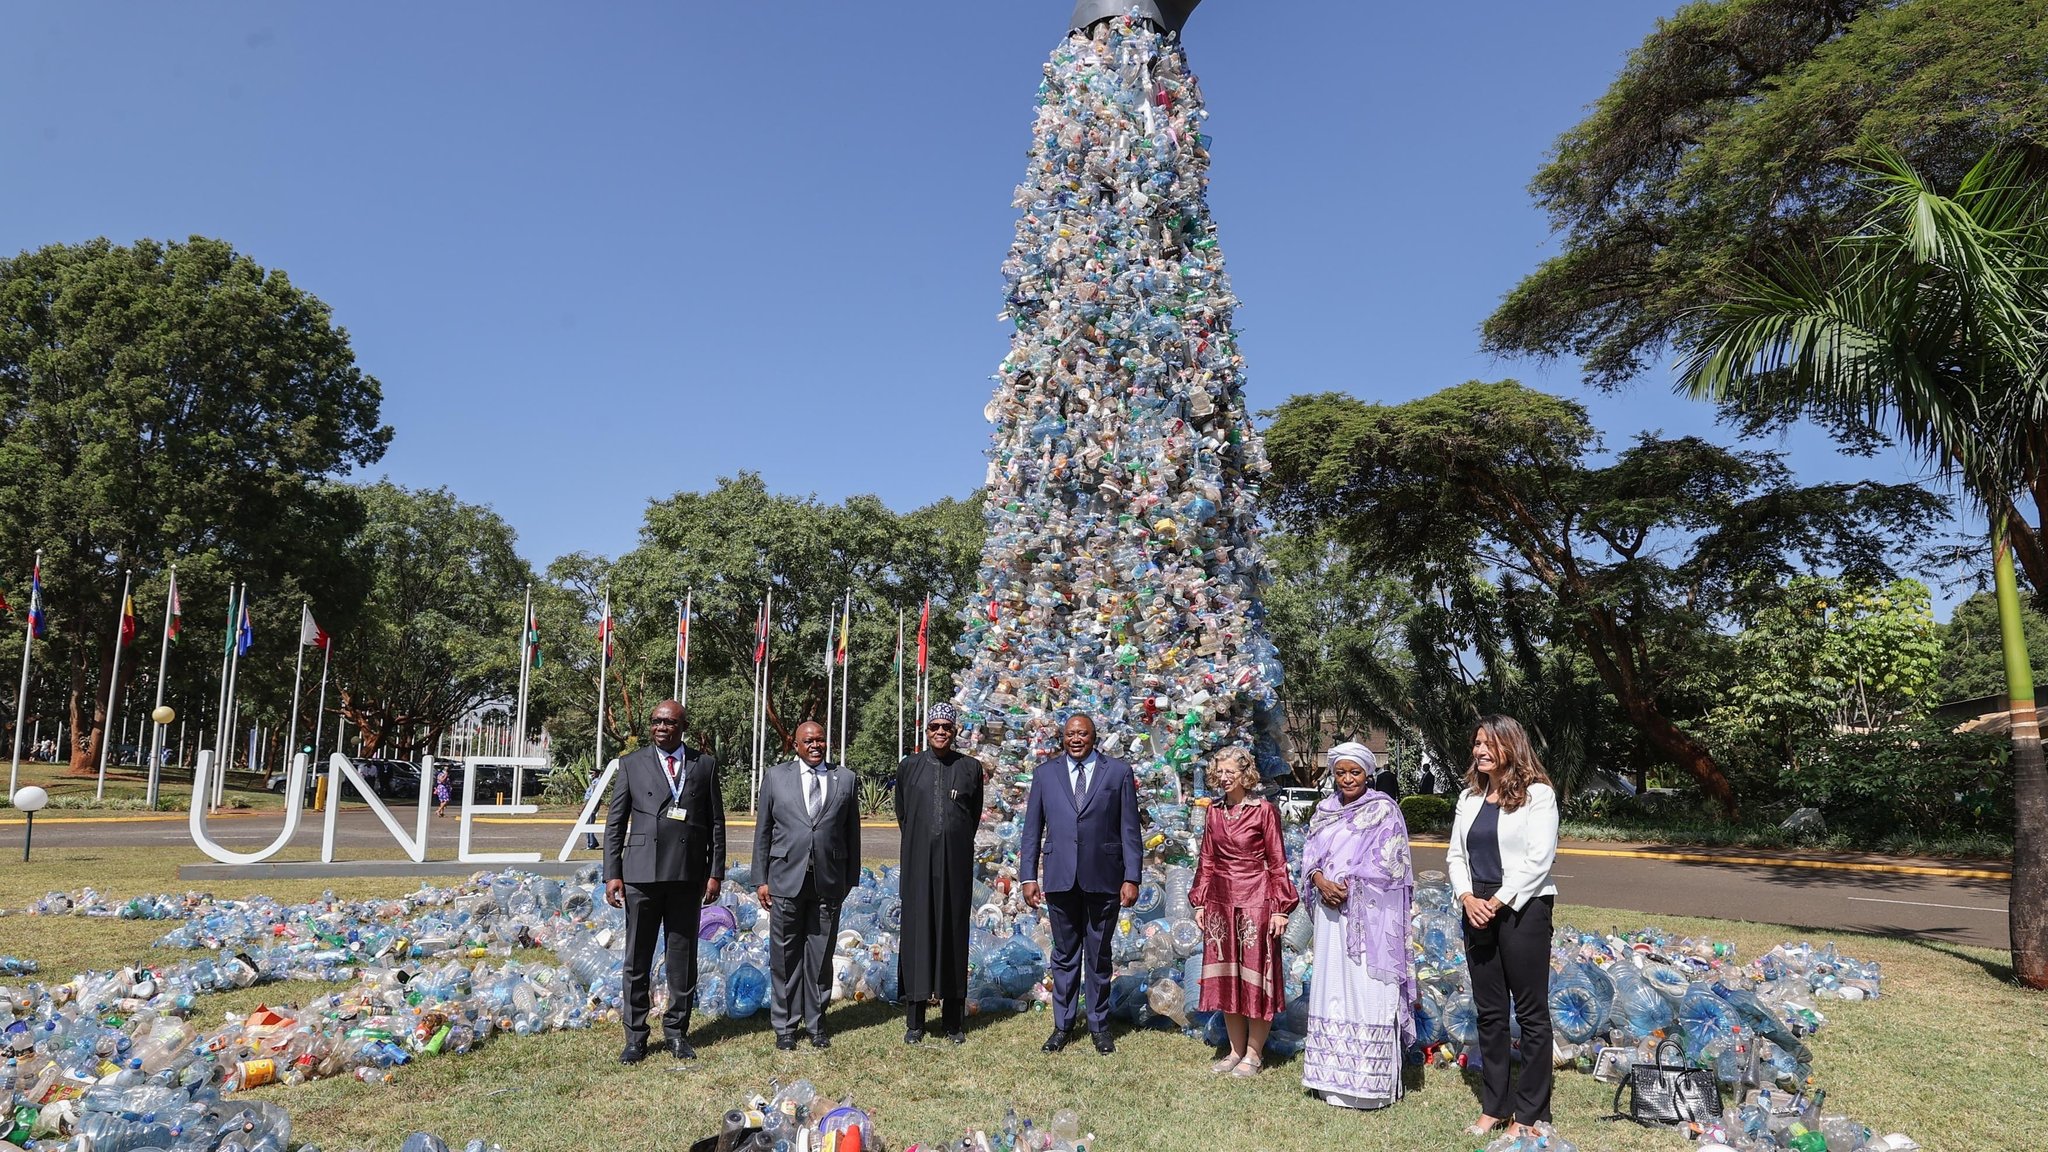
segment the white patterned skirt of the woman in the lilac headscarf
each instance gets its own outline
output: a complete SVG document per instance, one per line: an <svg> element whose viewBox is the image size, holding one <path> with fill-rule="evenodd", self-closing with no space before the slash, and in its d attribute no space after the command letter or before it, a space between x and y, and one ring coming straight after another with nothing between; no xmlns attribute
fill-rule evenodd
<svg viewBox="0 0 2048 1152"><path fill-rule="evenodd" d="M1343 910L1307 900L1315 924L1300 1084L1348 1109L1401 1099L1401 986L1374 980L1343 949Z"/></svg>

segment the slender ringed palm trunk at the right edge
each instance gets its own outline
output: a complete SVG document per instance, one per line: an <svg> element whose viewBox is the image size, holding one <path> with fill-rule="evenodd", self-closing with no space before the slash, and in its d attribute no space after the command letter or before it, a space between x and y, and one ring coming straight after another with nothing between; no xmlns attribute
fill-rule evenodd
<svg viewBox="0 0 2048 1152"><path fill-rule="evenodd" d="M2013 935L2013 976L2028 988L2048 988L2048 769L2034 713L2034 666L2019 623L2019 580L2005 547L2005 525L1991 541L1999 590L1999 637L2005 646L2005 691L2013 722L2013 883L2007 916Z"/></svg>

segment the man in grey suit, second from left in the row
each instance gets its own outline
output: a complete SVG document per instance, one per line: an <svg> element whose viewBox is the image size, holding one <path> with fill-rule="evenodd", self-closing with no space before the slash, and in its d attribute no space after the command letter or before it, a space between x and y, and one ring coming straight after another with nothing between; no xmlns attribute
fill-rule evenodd
<svg viewBox="0 0 2048 1152"><path fill-rule="evenodd" d="M825 763L825 730L797 726L797 758L762 775L754 822L754 875L768 910L768 1021L774 1045L831 1047L825 1000L840 904L860 877L860 795L854 773Z"/></svg>

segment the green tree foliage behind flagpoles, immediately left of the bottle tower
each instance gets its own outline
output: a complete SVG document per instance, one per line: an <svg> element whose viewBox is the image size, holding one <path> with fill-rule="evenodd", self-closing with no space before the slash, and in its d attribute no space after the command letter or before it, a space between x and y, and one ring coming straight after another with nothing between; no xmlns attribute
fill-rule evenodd
<svg viewBox="0 0 2048 1152"><path fill-rule="evenodd" d="M758 474L721 480L711 492L678 492L647 506L641 543L604 560L571 553L549 566L535 590L543 666L535 697L557 754L590 756L598 697L598 607L610 590L616 621L606 685L604 756L645 738L645 719L674 689L676 603L692 596L690 734L727 767L727 787L750 783L754 625L762 592L774 588L770 621L770 760L784 758L805 719L825 715L827 627L854 592L850 642L852 767L864 777L895 771L897 609L915 670L918 605L932 594L932 699L944 699L961 621L981 556L981 502L940 500L897 515L874 496L842 504L768 492ZM838 681L838 672L836 672ZM838 695L838 685L836 685ZM834 699L834 746L838 703ZM913 705L911 705L913 707ZM834 752L838 754L838 752ZM741 808L745 791L739 791Z"/></svg>

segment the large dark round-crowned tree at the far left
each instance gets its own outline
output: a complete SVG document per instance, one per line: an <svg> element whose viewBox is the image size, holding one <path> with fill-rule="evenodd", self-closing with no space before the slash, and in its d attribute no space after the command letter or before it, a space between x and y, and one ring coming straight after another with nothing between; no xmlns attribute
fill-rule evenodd
<svg viewBox="0 0 2048 1152"><path fill-rule="evenodd" d="M74 769L98 760L123 570L141 637L170 564L193 625L229 578L293 621L299 594L352 607L360 506L328 480L383 455L379 404L328 305L225 242L0 260L0 558L27 574L43 549L37 662L66 695ZM143 664L121 662L117 697ZM211 674L188 664L186 687Z"/></svg>

